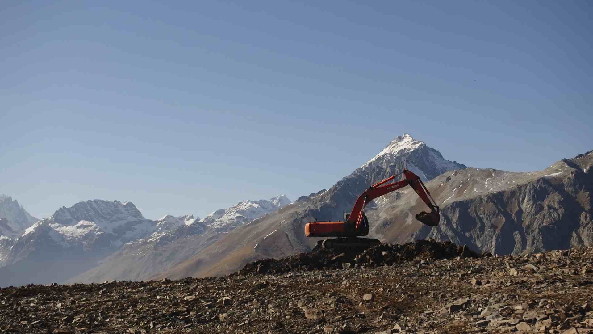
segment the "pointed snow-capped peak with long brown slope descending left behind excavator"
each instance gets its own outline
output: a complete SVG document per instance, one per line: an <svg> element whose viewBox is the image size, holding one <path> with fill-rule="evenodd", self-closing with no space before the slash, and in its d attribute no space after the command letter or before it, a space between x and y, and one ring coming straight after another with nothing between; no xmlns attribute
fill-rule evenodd
<svg viewBox="0 0 593 334"><path fill-rule="evenodd" d="M220 240L155 278L224 275L245 263L263 257L282 257L310 249L315 238L304 236L304 224L318 220L341 220L358 195L369 185L409 168L425 180L445 171L466 168L445 160L436 149L409 134L398 136L374 158L338 181L329 190L302 196L297 202L230 231Z"/></svg>

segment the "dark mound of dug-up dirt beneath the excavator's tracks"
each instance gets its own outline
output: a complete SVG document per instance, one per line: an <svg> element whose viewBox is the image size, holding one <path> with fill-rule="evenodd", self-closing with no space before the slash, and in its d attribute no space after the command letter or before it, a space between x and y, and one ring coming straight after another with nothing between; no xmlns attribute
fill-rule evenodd
<svg viewBox="0 0 593 334"><path fill-rule="evenodd" d="M288 273L313 269L342 269L357 266L394 265L409 260L439 260L454 257L479 257L466 246L457 246L451 241L416 240L407 244L378 244L365 250L331 252L315 249L312 252L291 255L282 259L263 259L248 263L238 273ZM489 256L481 255L481 256Z"/></svg>

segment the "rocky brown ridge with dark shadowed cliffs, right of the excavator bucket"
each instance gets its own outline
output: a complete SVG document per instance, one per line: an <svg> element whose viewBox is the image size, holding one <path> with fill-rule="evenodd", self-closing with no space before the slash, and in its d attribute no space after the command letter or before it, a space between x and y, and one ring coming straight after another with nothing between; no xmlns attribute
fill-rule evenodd
<svg viewBox="0 0 593 334"><path fill-rule="evenodd" d="M590 151L534 173L468 168L439 176L427 186L444 202L441 224L419 226L409 238L451 240L500 255L593 246L592 166ZM393 209L379 220L405 215ZM405 237L397 227L380 233L390 241Z"/></svg>

